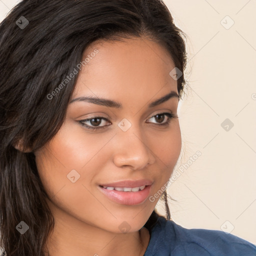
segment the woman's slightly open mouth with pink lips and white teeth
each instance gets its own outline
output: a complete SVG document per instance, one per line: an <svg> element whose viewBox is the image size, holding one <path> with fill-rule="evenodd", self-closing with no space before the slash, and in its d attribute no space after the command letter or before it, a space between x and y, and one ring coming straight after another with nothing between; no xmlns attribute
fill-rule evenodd
<svg viewBox="0 0 256 256"><path fill-rule="evenodd" d="M121 181L98 185L99 190L111 201L136 205L142 204L148 197L152 185L150 180Z"/></svg>

